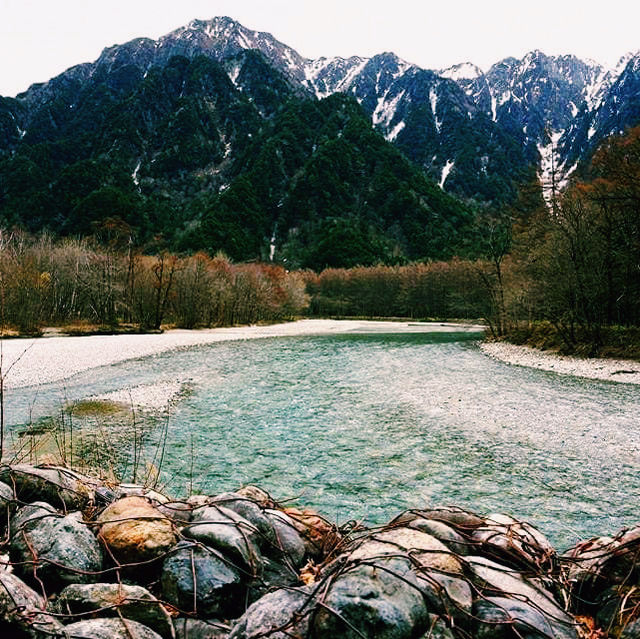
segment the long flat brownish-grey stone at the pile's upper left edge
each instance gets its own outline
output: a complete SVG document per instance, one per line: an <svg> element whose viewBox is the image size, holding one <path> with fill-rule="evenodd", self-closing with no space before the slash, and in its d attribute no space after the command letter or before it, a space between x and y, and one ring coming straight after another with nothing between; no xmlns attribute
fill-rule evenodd
<svg viewBox="0 0 640 639"><path fill-rule="evenodd" d="M46 501L61 510L84 510L95 498L97 482L69 470L50 466L37 468L26 464L0 467L0 482L15 490L23 503Z"/></svg>

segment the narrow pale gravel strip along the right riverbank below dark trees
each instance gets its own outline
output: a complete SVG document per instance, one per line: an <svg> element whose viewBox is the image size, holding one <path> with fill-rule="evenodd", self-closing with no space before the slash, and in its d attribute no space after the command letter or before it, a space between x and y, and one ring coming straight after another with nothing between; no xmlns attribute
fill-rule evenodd
<svg viewBox="0 0 640 639"><path fill-rule="evenodd" d="M506 342L484 342L480 348L490 357L507 364L529 366L588 379L640 384L640 362L623 359L571 357Z"/></svg>

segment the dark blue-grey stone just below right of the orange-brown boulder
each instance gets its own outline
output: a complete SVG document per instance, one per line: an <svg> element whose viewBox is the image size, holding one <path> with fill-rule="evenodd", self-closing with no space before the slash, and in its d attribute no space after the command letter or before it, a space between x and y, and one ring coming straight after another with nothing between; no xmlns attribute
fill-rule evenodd
<svg viewBox="0 0 640 639"><path fill-rule="evenodd" d="M205 546L180 542L164 560L160 582L162 598L182 612L222 619L244 612L240 573Z"/></svg>

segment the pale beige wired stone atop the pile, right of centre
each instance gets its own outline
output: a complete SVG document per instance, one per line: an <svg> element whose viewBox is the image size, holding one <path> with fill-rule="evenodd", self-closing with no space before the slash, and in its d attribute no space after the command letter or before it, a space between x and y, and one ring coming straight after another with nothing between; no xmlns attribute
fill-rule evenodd
<svg viewBox="0 0 640 639"><path fill-rule="evenodd" d="M389 528L368 535L349 554L351 561L404 554L423 569L462 574L460 560L435 537L412 528Z"/></svg>

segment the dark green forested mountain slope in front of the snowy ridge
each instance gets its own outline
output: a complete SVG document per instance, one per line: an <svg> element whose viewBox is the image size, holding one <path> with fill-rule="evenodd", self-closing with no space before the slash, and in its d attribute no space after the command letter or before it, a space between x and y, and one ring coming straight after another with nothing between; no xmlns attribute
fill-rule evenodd
<svg viewBox="0 0 640 639"><path fill-rule="evenodd" d="M316 100L256 49L159 48L157 63L146 41L110 49L2 102L5 223L88 234L117 218L140 240L313 268L460 245L469 208L355 99Z"/></svg>

